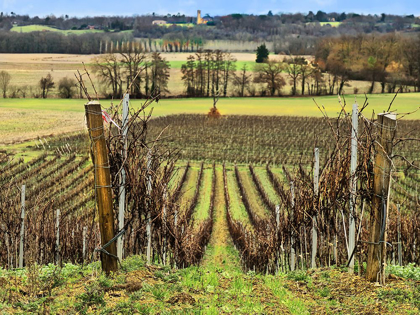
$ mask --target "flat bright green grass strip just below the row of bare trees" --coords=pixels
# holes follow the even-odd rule
[[[370,94],[365,115],[370,116],[387,110],[394,94]],[[344,98],[347,111],[356,100],[361,106],[365,101],[364,95],[349,95]],[[342,100],[344,101],[344,100]],[[114,100],[114,104],[117,101]],[[119,102],[119,101],[118,101]],[[131,100],[131,106],[139,107],[144,100]],[[222,115],[277,115],[277,116],[310,116],[321,117],[322,113],[315,102],[325,109],[331,117],[340,111],[337,96],[318,97],[227,97],[220,98],[217,107]],[[53,112],[83,112],[85,100],[80,99],[1,99],[0,109],[34,110]],[[104,108],[111,105],[111,100],[101,100]],[[174,98],[162,99],[153,105],[153,115],[172,114],[206,114],[213,105],[212,98]],[[392,109],[397,113],[413,112],[420,107],[420,93],[399,94],[393,102]],[[420,111],[408,116],[410,119],[420,119]],[[5,118],[5,117],[3,117]],[[7,119],[7,117],[6,117]],[[4,120],[0,125],[4,123]],[[22,121],[23,123],[23,121]]]

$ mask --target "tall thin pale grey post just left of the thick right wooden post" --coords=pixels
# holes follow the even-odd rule
[[[356,189],[357,189],[357,131],[359,128],[357,104],[353,104],[350,159],[350,215],[349,215],[349,273],[354,272],[354,247],[356,244]]]

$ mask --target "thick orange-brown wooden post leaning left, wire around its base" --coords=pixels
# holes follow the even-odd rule
[[[95,168],[95,193],[99,212],[99,229],[102,246],[107,244],[115,235],[114,212],[112,208],[112,187],[108,151],[105,143],[104,125],[101,105],[91,101],[85,105],[86,120],[89,136],[92,141],[92,161]],[[111,243],[106,251],[117,255],[115,242]],[[102,270],[108,275],[118,269],[117,259],[101,252]]]

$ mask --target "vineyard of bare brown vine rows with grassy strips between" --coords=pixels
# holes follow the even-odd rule
[[[128,165],[124,166],[128,206],[124,257],[148,255],[150,243],[151,264],[194,268],[206,264],[212,239],[224,238],[232,242],[240,269],[248,274],[293,273],[313,264],[317,268],[348,265],[348,116],[338,120],[173,115],[145,120],[147,132],[139,121],[133,123],[141,132],[129,135],[133,157],[126,162],[118,137],[109,131],[107,140],[116,209],[118,174]],[[365,126],[360,143],[362,137],[368,139],[374,125],[364,117],[361,120]],[[413,142],[402,141],[420,138],[420,127],[417,121],[400,120],[397,132],[386,231],[388,264],[420,265],[420,173],[415,167],[419,155]],[[141,147],[136,145],[138,139],[154,145]],[[314,189],[315,148],[320,152],[319,192]],[[22,221],[24,265],[97,260],[100,254],[95,249],[101,239],[88,135],[39,138],[31,149],[37,157],[27,163],[7,151],[0,154],[0,266],[19,267]],[[357,171],[360,193],[354,252],[354,270],[359,275],[366,268],[373,198],[368,189],[370,156],[363,154],[371,148],[366,144],[363,150]],[[22,189],[26,191],[24,220]],[[313,217],[318,218],[314,262]],[[219,227],[220,220],[225,230]],[[118,231],[116,214],[114,221]]]

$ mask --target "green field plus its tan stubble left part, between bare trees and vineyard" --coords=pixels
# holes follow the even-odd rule
[[[393,95],[368,95],[369,107],[366,115],[372,111],[381,112],[391,103]],[[315,97],[319,106],[323,106],[330,117],[340,110],[336,96]],[[364,96],[357,95],[356,100],[363,104]],[[354,97],[346,99],[348,108]],[[30,140],[38,136],[83,130],[85,126],[83,113],[84,100],[79,99],[2,99],[0,114],[2,137],[0,144],[10,144]],[[102,106],[108,108],[110,100],[102,100]],[[116,103],[114,101],[114,103]],[[138,108],[142,100],[132,100],[131,106]],[[415,111],[420,105],[418,93],[400,94],[392,108],[398,113]],[[212,106],[212,99],[162,99],[154,104],[155,117],[172,114],[205,114]],[[305,98],[221,98],[218,108],[223,115],[276,115],[276,116],[308,116],[321,117],[322,113],[310,97]],[[369,113],[369,114],[367,114]],[[420,119],[420,112],[409,116],[409,119]]]

